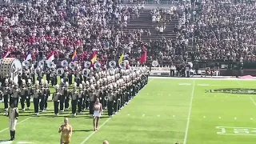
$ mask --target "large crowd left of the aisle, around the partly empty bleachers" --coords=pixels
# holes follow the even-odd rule
[[[125,52],[126,58],[136,62],[140,53],[148,50],[150,60],[186,61],[184,23],[176,29],[176,40],[162,38],[142,42],[141,34],[150,36],[150,30],[126,31],[127,23],[138,18],[143,8],[143,2],[124,6],[109,0],[31,0],[1,6],[0,51],[1,54],[10,51],[10,57],[20,58],[25,58],[30,51],[34,59],[39,58],[40,52],[47,56],[56,51],[56,59],[62,59],[70,58],[76,50],[78,58],[84,60],[96,50],[98,59],[103,61],[117,59]],[[152,15],[161,13],[159,23],[165,28],[166,22],[183,14],[176,9],[173,6],[170,10],[155,9]]]

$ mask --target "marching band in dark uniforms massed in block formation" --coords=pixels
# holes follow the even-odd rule
[[[2,97],[4,109],[8,103],[20,102],[22,110],[30,110],[30,100],[33,98],[34,114],[38,115],[48,108],[48,101],[54,102],[54,114],[58,115],[72,108],[72,114],[81,114],[89,110],[93,114],[94,102],[99,98],[108,115],[116,114],[139,90],[148,82],[146,67],[130,67],[130,69],[110,68],[107,70],[88,69],[61,72],[60,82],[56,70],[39,70],[37,78],[33,71],[24,69],[18,83],[10,78],[2,80]],[[32,74],[31,74],[32,73]],[[46,79],[43,76],[46,74]],[[74,83],[73,83],[74,75]],[[50,91],[50,84],[54,91]],[[72,86],[70,88],[70,86]],[[51,94],[53,93],[53,94]],[[70,106],[71,104],[71,106]],[[6,113],[5,113],[6,114]]]

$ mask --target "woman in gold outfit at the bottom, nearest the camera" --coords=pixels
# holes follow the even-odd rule
[[[62,133],[60,143],[61,144],[69,144],[72,136],[72,126],[69,125],[68,118],[64,118],[64,125],[60,126],[58,129],[58,133]]]

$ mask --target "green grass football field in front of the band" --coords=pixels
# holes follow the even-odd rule
[[[256,81],[249,80],[150,78],[118,114],[101,118],[98,132],[93,131],[88,111],[70,118],[74,129],[71,143],[101,144],[106,139],[110,144],[255,144],[256,98],[254,94],[230,93],[230,89],[255,87]],[[53,103],[49,104],[51,109],[39,117],[33,116],[34,110],[21,112],[13,144],[59,143],[58,127],[70,111],[54,117]],[[7,118],[0,116],[0,140],[9,138]]]

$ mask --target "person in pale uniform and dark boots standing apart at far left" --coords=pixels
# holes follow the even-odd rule
[[[14,102],[10,103],[7,116],[9,117],[10,141],[15,139],[16,124],[18,121],[18,108]]]

